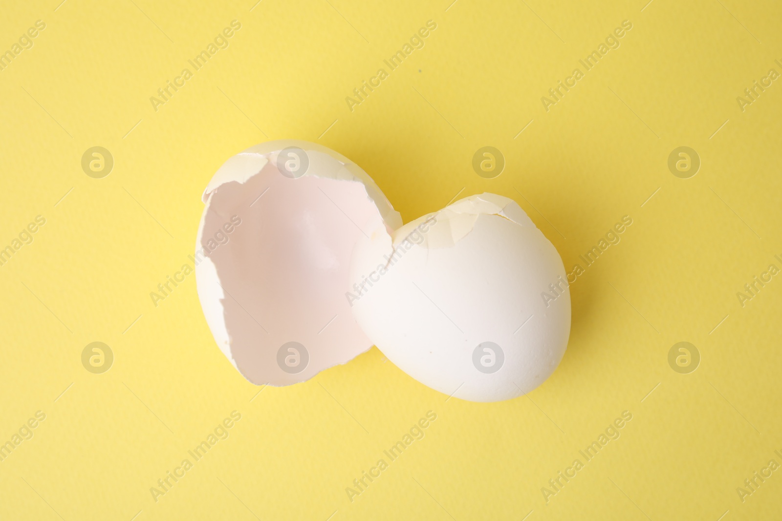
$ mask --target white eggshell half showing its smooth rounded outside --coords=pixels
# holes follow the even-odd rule
[[[565,354],[570,294],[554,245],[511,199],[474,195],[353,252],[361,328],[422,384],[471,401],[532,391]],[[557,298],[545,302],[550,284]],[[485,344],[490,342],[492,344]]]

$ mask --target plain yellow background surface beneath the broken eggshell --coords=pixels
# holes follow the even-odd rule
[[[782,464],[782,276],[737,297],[782,268],[782,80],[737,102],[782,73],[779,2],[254,2],[3,2],[0,52],[46,27],[0,70],[0,248],[46,222],[0,266],[0,443],[45,420],[0,461],[0,519],[782,516],[782,470],[737,493]],[[153,109],[231,20],[228,48]],[[389,70],[427,20],[424,47]],[[623,20],[619,48],[544,109]],[[633,224],[572,284],[565,359],[528,397],[447,399],[376,348],[257,394],[214,343],[194,276],[157,306],[149,293],[188,262],[222,162],[281,138],[353,159],[405,221],[457,194],[514,198],[569,271]],[[81,169],[93,146],[113,155],[108,177]],[[472,170],[484,146],[504,154],[495,179]],[[701,159],[689,179],[667,166],[680,146]],[[94,341],[113,351],[106,373],[82,366]],[[680,341],[700,352],[693,373],[669,366]],[[232,411],[228,439],[155,501]],[[350,501],[428,411],[425,437]],[[619,439],[546,501],[622,411]]]

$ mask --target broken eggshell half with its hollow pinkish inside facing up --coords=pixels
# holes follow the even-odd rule
[[[364,170],[321,145],[271,141],[228,159],[203,202],[199,300],[247,380],[295,384],[371,348],[345,298],[350,257],[401,219]]]

